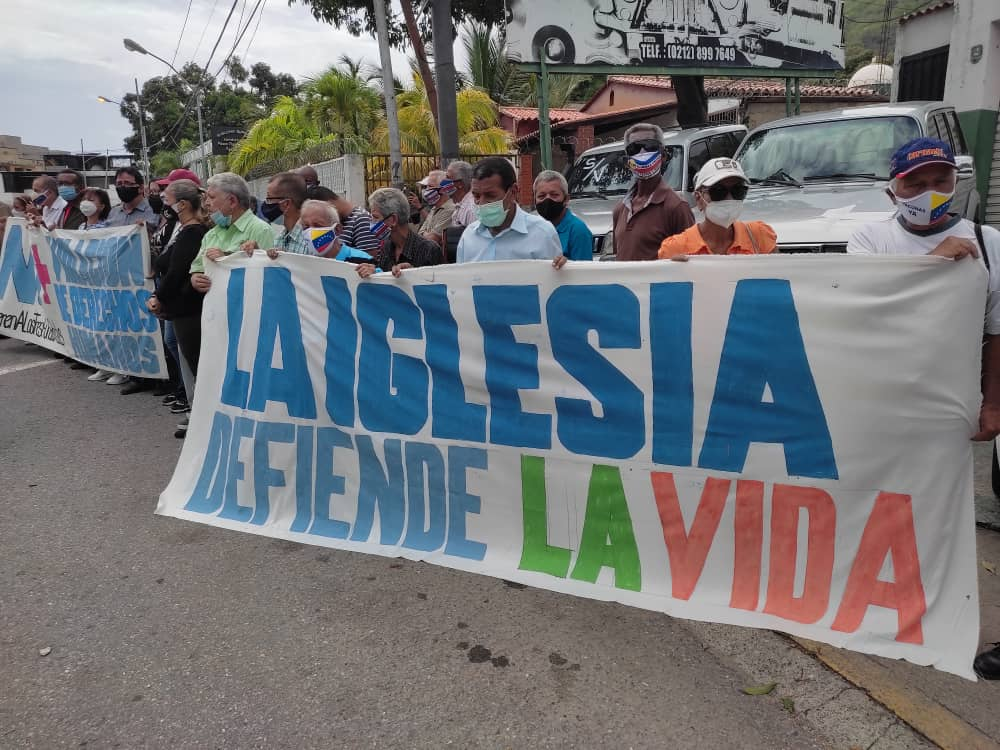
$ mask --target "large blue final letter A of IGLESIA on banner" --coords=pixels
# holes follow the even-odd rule
[[[791,284],[782,279],[736,285],[698,466],[742,472],[750,443],[782,444],[789,476],[838,477]]]

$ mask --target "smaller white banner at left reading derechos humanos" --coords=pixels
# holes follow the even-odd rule
[[[0,250],[0,333],[92,367],[167,377],[149,239],[139,227],[45,231],[9,219]]]

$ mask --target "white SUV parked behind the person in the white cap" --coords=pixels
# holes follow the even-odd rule
[[[889,159],[921,136],[951,145],[954,210],[977,220],[972,157],[955,108],[943,102],[814,112],[756,128],[736,154],[751,182],[742,218],[774,227],[782,252],[845,252],[859,226],[895,210],[886,194]]]

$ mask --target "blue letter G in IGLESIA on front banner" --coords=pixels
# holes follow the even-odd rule
[[[370,432],[414,435],[427,421],[427,365],[419,357],[397,354],[387,339],[420,340],[420,308],[402,289],[388,284],[358,287],[358,415]],[[361,393],[364,389],[364,393]]]

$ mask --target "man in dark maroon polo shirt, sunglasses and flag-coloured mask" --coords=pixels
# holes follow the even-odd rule
[[[640,122],[625,131],[635,182],[612,213],[618,260],[656,260],[660,243],[694,224],[687,202],[663,179],[663,131]]]

